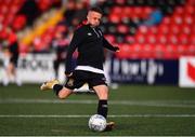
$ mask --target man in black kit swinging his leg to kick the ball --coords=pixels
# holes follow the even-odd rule
[[[87,15],[87,22],[82,23],[74,32],[74,37],[68,46],[66,57],[67,81],[61,85],[57,80],[44,82],[41,91],[53,90],[58,98],[65,99],[74,88],[79,88],[84,83],[93,88],[99,97],[98,114],[107,118],[108,87],[103,70],[104,47],[117,52],[118,46],[113,46],[103,36],[99,28],[102,10],[92,8]],[[74,68],[72,58],[73,53],[78,51],[77,66]],[[115,123],[108,122],[105,131],[113,129]]]

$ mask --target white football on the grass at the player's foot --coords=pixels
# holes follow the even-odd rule
[[[106,119],[100,114],[93,114],[89,119],[89,128],[94,132],[103,132],[106,128]]]

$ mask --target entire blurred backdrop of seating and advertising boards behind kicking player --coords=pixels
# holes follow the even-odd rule
[[[73,31],[92,5],[120,47],[105,51],[110,85],[195,87],[194,0],[0,0],[0,83],[63,82]]]

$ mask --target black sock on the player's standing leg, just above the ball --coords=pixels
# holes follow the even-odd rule
[[[106,119],[107,110],[107,100],[99,100],[98,114],[101,114]]]

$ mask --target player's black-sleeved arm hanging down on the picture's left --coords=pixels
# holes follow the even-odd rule
[[[73,54],[75,52],[75,50],[77,49],[77,46],[81,43],[83,37],[82,37],[82,30],[81,29],[77,29],[74,32],[73,39],[69,43],[68,46],[68,51],[67,51],[67,56],[66,56],[66,71],[65,74],[67,77],[72,76],[72,72],[74,70],[74,66],[73,66]]]

